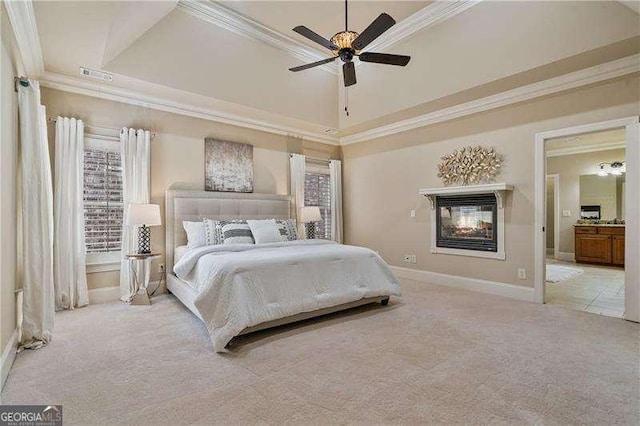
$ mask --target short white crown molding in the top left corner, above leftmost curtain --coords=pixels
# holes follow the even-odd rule
[[[31,0],[5,1],[3,3],[7,8],[7,15],[16,37],[26,77],[38,78],[44,72],[44,61],[33,3]]]

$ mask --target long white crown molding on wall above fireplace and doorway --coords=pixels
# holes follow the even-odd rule
[[[340,144],[350,145],[384,136],[390,136],[396,133],[406,132],[408,130],[464,117],[466,115],[477,114],[479,112],[528,101],[541,96],[574,89],[587,84],[622,77],[639,71],[640,55],[632,55],[626,58],[596,65],[594,67],[585,68],[580,71],[553,77],[548,80],[507,90],[496,95],[454,105],[449,108],[443,108],[418,117],[400,120],[395,123],[355,133],[353,135],[343,136],[340,138]]]

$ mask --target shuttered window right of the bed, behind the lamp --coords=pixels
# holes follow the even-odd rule
[[[329,166],[307,163],[304,179],[304,205],[320,207],[322,220],[315,223],[316,238],[331,239],[331,183]]]

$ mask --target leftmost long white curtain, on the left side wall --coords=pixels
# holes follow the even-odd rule
[[[5,88],[6,89],[6,88]],[[18,85],[22,168],[23,322],[21,347],[39,348],[53,335],[53,188],[47,119],[40,85]]]

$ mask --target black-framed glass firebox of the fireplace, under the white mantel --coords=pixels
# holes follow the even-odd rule
[[[493,194],[437,197],[436,213],[438,247],[498,251]]]

